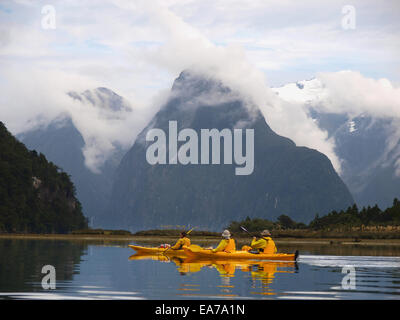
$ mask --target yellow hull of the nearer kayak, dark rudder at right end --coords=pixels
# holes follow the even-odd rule
[[[248,251],[235,251],[232,253],[216,252],[213,253],[208,249],[197,249],[190,247],[183,247],[187,257],[192,259],[210,259],[210,260],[273,260],[273,261],[296,261],[298,251],[293,254],[276,253],[276,254],[254,254]]]

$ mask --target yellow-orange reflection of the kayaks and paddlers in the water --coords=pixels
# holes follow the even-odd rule
[[[176,270],[181,276],[197,273],[202,269],[214,269],[217,271],[220,283],[216,287],[220,289],[217,296],[235,297],[233,289],[235,284],[232,279],[238,272],[243,273],[245,278],[250,280],[252,294],[257,295],[275,295],[275,291],[271,288],[277,273],[296,273],[298,264],[296,262],[280,262],[280,261],[243,261],[243,260],[196,260],[191,258],[168,257],[164,255],[143,255],[134,254],[129,260],[155,260],[160,262],[172,262],[176,265]],[[182,284],[179,288],[184,291],[179,295],[191,296],[199,291],[199,285]]]

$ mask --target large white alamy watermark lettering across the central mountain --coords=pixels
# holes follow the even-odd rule
[[[220,150],[223,140],[223,163],[233,164],[235,162],[239,166],[235,168],[236,175],[253,173],[254,129],[246,129],[245,131],[244,154],[242,129],[222,129],[221,131],[218,129],[201,129],[200,137],[197,131],[190,128],[178,132],[177,121],[169,121],[168,129],[168,135],[164,130],[157,128],[150,129],[147,132],[146,141],[153,142],[146,150],[146,160],[149,164],[210,164],[210,141],[211,164],[221,164]],[[178,148],[178,142],[184,143]]]

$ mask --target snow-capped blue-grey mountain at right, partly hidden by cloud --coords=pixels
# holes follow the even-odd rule
[[[334,139],[335,152],[342,161],[341,177],[358,204],[386,207],[400,196],[400,140],[395,115],[356,113],[351,104],[335,109],[330,88],[317,78],[271,89],[283,100],[306,108],[328,132],[328,138]],[[352,88],[348,90],[351,93]],[[354,95],[362,101],[361,93]]]

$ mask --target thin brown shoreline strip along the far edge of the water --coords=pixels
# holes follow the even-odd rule
[[[138,236],[138,235],[75,235],[75,234],[0,234],[0,239],[21,240],[69,240],[69,241],[117,241],[117,242],[173,242],[177,237],[172,236]],[[220,237],[192,236],[193,242],[207,243],[219,241]],[[236,238],[238,243],[248,242],[250,238]],[[400,239],[361,239],[354,238],[274,238],[276,244],[288,245],[343,245],[343,246],[398,246]]]

